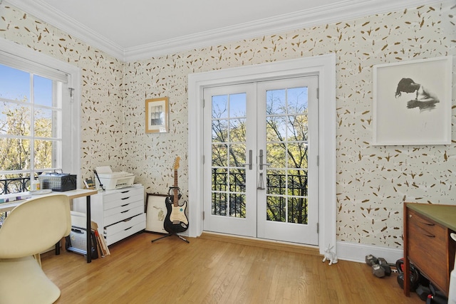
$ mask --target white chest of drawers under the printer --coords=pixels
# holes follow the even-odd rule
[[[73,210],[86,212],[86,199],[73,199]],[[91,196],[92,221],[109,246],[145,229],[144,187],[134,185]]]

